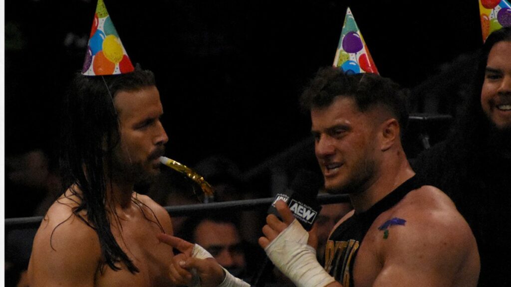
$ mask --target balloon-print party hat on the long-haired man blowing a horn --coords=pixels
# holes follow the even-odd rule
[[[86,76],[130,73],[133,64],[124,49],[117,30],[106,11],[103,0],[98,0],[92,30],[87,45],[82,74]]]

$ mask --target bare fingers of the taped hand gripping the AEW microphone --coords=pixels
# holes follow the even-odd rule
[[[260,237],[258,241],[262,248],[266,248],[270,242],[272,242],[278,236],[278,234],[280,234],[295,220],[293,212],[291,212],[284,201],[278,200],[275,202],[275,208],[277,209],[278,214],[280,214],[284,222],[279,220],[273,214],[269,214],[266,217],[267,224],[263,226],[263,234],[265,236]],[[307,244],[312,246],[314,249],[317,249],[317,243],[317,226],[314,224],[311,231],[309,231],[309,240]]]

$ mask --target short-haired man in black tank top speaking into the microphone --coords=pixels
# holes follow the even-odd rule
[[[403,151],[404,97],[388,79],[348,76],[330,67],[304,92],[325,187],[349,194],[354,210],[332,230],[323,268],[308,245],[314,245],[314,236],[309,238],[284,202],[275,203],[283,220],[270,214],[259,244],[298,287],[477,284],[479,254],[470,227],[441,190],[421,184]],[[212,259],[186,252],[189,243],[159,238],[189,255],[174,258],[174,281],[187,282],[190,276],[183,271],[190,268],[207,282],[221,281],[218,268],[205,268]]]

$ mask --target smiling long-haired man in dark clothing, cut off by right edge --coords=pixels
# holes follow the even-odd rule
[[[511,286],[511,28],[483,45],[473,85],[449,137],[414,161],[467,219],[481,256],[479,286]]]

